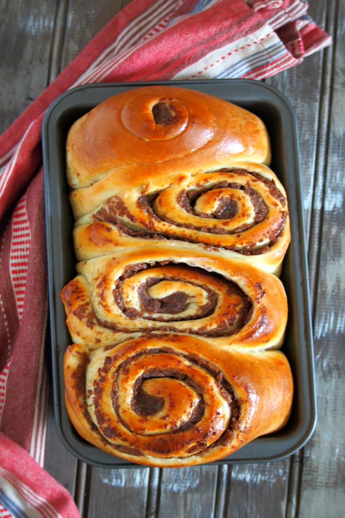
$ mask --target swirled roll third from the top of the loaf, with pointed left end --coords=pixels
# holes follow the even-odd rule
[[[222,348],[259,350],[282,343],[288,311],[281,282],[236,254],[229,258],[186,243],[149,240],[77,269],[80,275],[61,298],[73,340],[88,347],[145,332],[213,337]]]

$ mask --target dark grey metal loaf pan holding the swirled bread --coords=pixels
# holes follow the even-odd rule
[[[66,138],[74,121],[112,95],[157,83],[91,84],[67,91],[51,105],[43,122],[44,188],[48,247],[49,303],[55,419],[66,448],[82,461],[103,468],[138,467],[103,452],[74,430],[64,400],[63,358],[71,343],[63,305],[63,286],[76,276],[73,215],[66,181]],[[159,84],[171,84],[161,82]],[[174,81],[173,85],[215,95],[260,117],[272,144],[271,168],[284,185],[291,218],[291,244],[283,262],[281,280],[288,296],[289,318],[282,351],[294,378],[291,418],[279,432],[260,437],[217,464],[265,462],[281,459],[301,448],[316,425],[316,391],[308,292],[298,137],[293,109],[280,92],[251,80]]]

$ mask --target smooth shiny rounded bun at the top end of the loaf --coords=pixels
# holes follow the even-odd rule
[[[127,190],[179,171],[214,169],[224,160],[268,164],[263,122],[227,100],[172,86],[110,97],[77,120],[67,138],[73,189],[118,170],[126,172],[119,190]]]

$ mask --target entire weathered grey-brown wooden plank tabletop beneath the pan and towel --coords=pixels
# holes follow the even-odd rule
[[[0,131],[128,1],[0,1]],[[310,3],[333,47],[267,80],[298,120],[316,351],[319,420],[306,447],[283,461],[182,470],[104,470],[77,462],[59,441],[50,399],[46,469],[76,498],[83,516],[343,516],[345,306],[344,0]],[[340,237],[339,237],[340,236]]]

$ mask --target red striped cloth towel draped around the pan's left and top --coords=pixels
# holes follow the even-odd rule
[[[0,138],[0,518],[79,516],[40,467],[47,402],[44,112],[78,84],[272,76],[331,42],[307,8],[301,0],[133,0]]]

